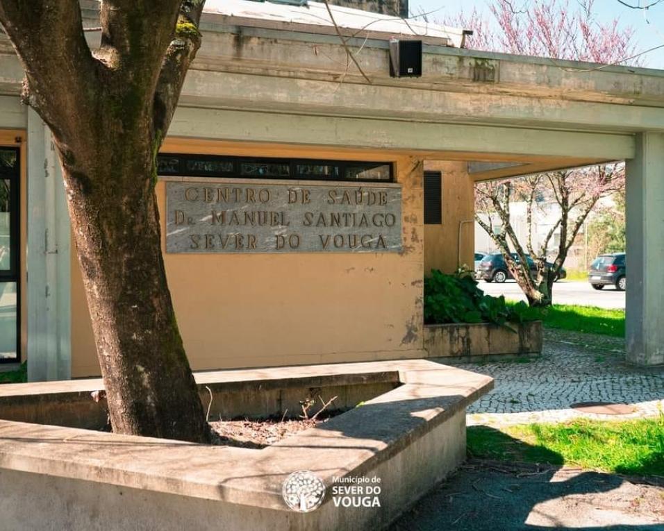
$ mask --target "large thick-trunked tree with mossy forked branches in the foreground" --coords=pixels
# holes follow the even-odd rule
[[[49,125],[115,432],[208,440],[166,283],[156,153],[201,44],[204,0],[0,0],[22,98]]]

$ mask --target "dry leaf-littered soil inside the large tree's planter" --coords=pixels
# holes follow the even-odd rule
[[[213,444],[239,446],[240,448],[265,448],[286,437],[308,430],[329,421],[341,411],[332,412],[316,419],[259,419],[210,422]]]

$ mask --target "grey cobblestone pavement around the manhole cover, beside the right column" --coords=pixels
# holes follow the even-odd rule
[[[468,425],[559,422],[584,417],[619,420],[664,412],[664,368],[624,361],[622,339],[545,330],[542,355],[529,362],[463,364],[495,378],[495,389],[468,408]],[[626,403],[636,411],[600,415],[570,409],[580,402]]]

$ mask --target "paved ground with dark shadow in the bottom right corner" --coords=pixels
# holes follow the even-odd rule
[[[472,460],[390,531],[661,531],[664,489],[613,474]]]

